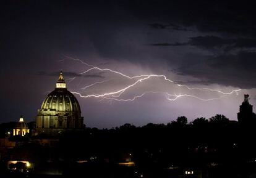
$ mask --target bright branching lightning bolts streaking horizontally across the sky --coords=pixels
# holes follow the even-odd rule
[[[202,100],[202,101],[210,101],[210,100],[218,100],[218,99],[221,99],[223,97],[227,97],[228,95],[231,95],[231,94],[237,94],[238,95],[238,92],[241,91],[241,89],[235,89],[231,92],[223,92],[219,89],[210,89],[210,88],[198,88],[198,87],[189,87],[189,86],[186,86],[186,85],[183,85],[183,84],[177,84],[175,83],[173,80],[171,79],[168,79],[165,75],[155,75],[155,74],[150,74],[150,75],[137,75],[137,76],[128,76],[128,75],[125,75],[124,73],[121,73],[119,71],[115,71],[115,70],[111,70],[110,68],[100,68],[100,67],[96,67],[94,65],[90,65],[86,62],[83,62],[82,60],[80,59],[74,59],[72,57],[67,57],[65,56],[66,58],[65,59],[62,59],[62,60],[66,60],[66,59],[69,59],[69,60],[74,60],[74,61],[77,61],[77,62],[80,62],[84,65],[87,65],[87,67],[90,67],[88,70],[85,70],[83,71],[82,73],[80,73],[80,75],[83,75],[85,73],[88,73],[92,70],[99,70],[99,71],[109,71],[111,73],[115,73],[117,75],[120,75],[120,76],[123,76],[127,79],[137,79],[134,83],[122,88],[122,89],[118,89],[117,91],[112,91],[112,92],[107,92],[105,94],[90,94],[90,95],[82,95],[80,92],[72,92],[73,94],[77,94],[79,95],[80,97],[82,98],[88,98],[88,97],[96,97],[96,98],[101,98],[102,100],[103,99],[108,99],[108,100],[116,100],[116,101],[124,101],[124,102],[128,102],[128,101],[134,101],[135,99],[138,99],[140,97],[143,97],[145,94],[150,94],[150,93],[153,93],[153,94],[165,94],[166,95],[166,99],[170,100],[170,101],[174,101],[174,100],[177,100],[181,97],[193,97],[195,99],[198,99],[198,100]],[[61,61],[62,61],[61,60]],[[168,83],[173,83],[175,86],[177,87],[185,87],[186,89],[190,90],[190,91],[194,91],[194,90],[199,90],[199,91],[211,91],[211,92],[217,92],[219,94],[221,94],[220,97],[216,97],[216,98],[211,98],[211,99],[202,99],[200,97],[197,97],[195,95],[190,95],[190,94],[179,94],[179,95],[176,95],[176,94],[169,94],[168,92],[159,92],[159,91],[147,91],[147,92],[143,92],[142,94],[140,95],[136,95],[135,97],[133,97],[132,99],[119,99],[118,97],[120,97],[124,92],[126,92],[128,89],[134,87],[135,85],[139,84],[139,83],[142,83],[144,81],[147,81],[148,79],[150,78],[162,78],[164,81],[168,82]],[[73,81],[74,79],[72,79]],[[109,81],[109,80],[106,80],[106,81]],[[100,83],[105,83],[106,81],[98,81],[96,83],[93,83],[93,84],[90,84],[88,86],[85,86],[85,87],[82,87],[82,89],[87,89],[88,87],[92,87],[96,84],[100,84]]]

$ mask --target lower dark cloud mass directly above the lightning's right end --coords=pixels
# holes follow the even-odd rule
[[[256,52],[240,51],[237,54],[221,54],[203,56],[200,54],[187,54],[193,62],[177,68],[180,75],[190,75],[196,78],[207,79],[201,84],[216,83],[224,86],[241,88],[256,87]],[[186,65],[185,65],[186,63]],[[195,83],[197,83],[195,81]]]

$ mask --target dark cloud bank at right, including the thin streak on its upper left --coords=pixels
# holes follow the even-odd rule
[[[221,84],[243,89],[256,87],[256,84],[251,82],[256,78],[255,38],[221,38],[207,35],[191,37],[184,43],[155,43],[151,46],[193,46],[202,49],[201,52],[185,54],[174,70],[179,75],[200,79],[184,83]]]

